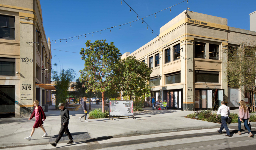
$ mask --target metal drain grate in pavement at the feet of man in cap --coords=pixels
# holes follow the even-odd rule
[[[80,139],[91,139],[89,133],[71,133],[73,140],[80,140]],[[50,136],[49,142],[55,142],[58,135]],[[63,134],[60,141],[69,141],[68,135]]]

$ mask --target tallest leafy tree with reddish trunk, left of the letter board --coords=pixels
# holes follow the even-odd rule
[[[113,42],[109,44],[106,40],[96,40],[91,43],[88,40],[86,49],[81,48],[81,59],[84,60],[84,69],[80,70],[80,81],[94,93],[102,93],[102,104],[105,100],[105,92],[109,89],[118,89],[118,65],[121,59],[121,53],[115,47]],[[104,112],[102,105],[102,112]]]

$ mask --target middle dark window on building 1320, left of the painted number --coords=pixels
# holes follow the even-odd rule
[[[0,57],[0,75],[15,76],[15,58]]]

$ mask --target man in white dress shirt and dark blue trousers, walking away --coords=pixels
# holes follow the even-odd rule
[[[223,128],[225,128],[225,130],[227,132],[226,136],[230,137],[231,135],[230,135],[228,125],[227,125],[228,116],[230,114],[230,108],[225,105],[225,101],[221,101],[221,106],[218,109],[216,118],[218,117],[219,114],[221,115],[221,126],[220,126],[220,130],[218,130],[218,132],[221,133]]]

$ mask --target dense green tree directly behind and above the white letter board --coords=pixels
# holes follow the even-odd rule
[[[149,86],[147,84],[150,79],[152,69],[144,62],[139,62],[134,56],[128,56],[121,60],[121,91],[123,96],[143,96],[148,93]]]

